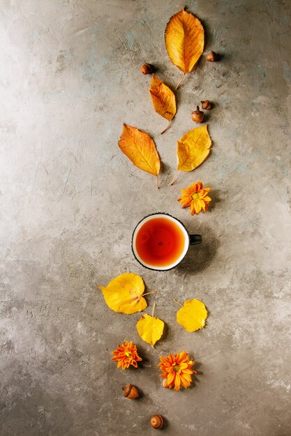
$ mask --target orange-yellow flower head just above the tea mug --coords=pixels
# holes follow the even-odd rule
[[[192,183],[188,188],[181,189],[181,197],[178,199],[180,203],[183,203],[182,208],[191,207],[191,215],[198,215],[200,210],[207,211],[209,201],[211,198],[207,196],[207,193],[211,188],[204,188],[202,182]]]

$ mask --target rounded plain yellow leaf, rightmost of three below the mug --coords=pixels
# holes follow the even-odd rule
[[[199,299],[186,299],[184,306],[177,311],[177,322],[187,332],[202,329],[207,318],[207,309]]]

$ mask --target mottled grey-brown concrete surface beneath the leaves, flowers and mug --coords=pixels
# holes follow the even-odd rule
[[[151,107],[153,63],[172,88],[163,32],[183,6],[207,32],[204,56],[177,92],[170,130]],[[288,0],[1,0],[1,436],[290,436],[290,6]],[[169,186],[177,139],[211,100],[209,159]],[[149,132],[161,189],[120,152],[121,123]],[[181,210],[180,189],[211,186],[209,212]],[[169,272],[130,251],[137,221],[169,212],[204,238]],[[154,349],[137,313],[107,308],[97,285],[144,278],[166,322]],[[187,333],[173,298],[199,298],[207,327]],[[125,339],[144,361],[121,371]],[[192,389],[161,388],[159,356],[186,349]],[[122,397],[122,385],[142,390]],[[161,433],[162,434],[162,433]]]

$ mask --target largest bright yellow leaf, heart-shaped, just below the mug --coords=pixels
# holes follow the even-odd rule
[[[133,272],[121,274],[103,288],[105,302],[114,312],[131,313],[141,312],[147,307],[147,302],[142,297],[144,293],[144,281],[142,277]]]

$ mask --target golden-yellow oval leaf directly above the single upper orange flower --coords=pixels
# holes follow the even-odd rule
[[[189,130],[178,141],[178,170],[192,171],[202,164],[210,153],[211,138],[207,125]]]

